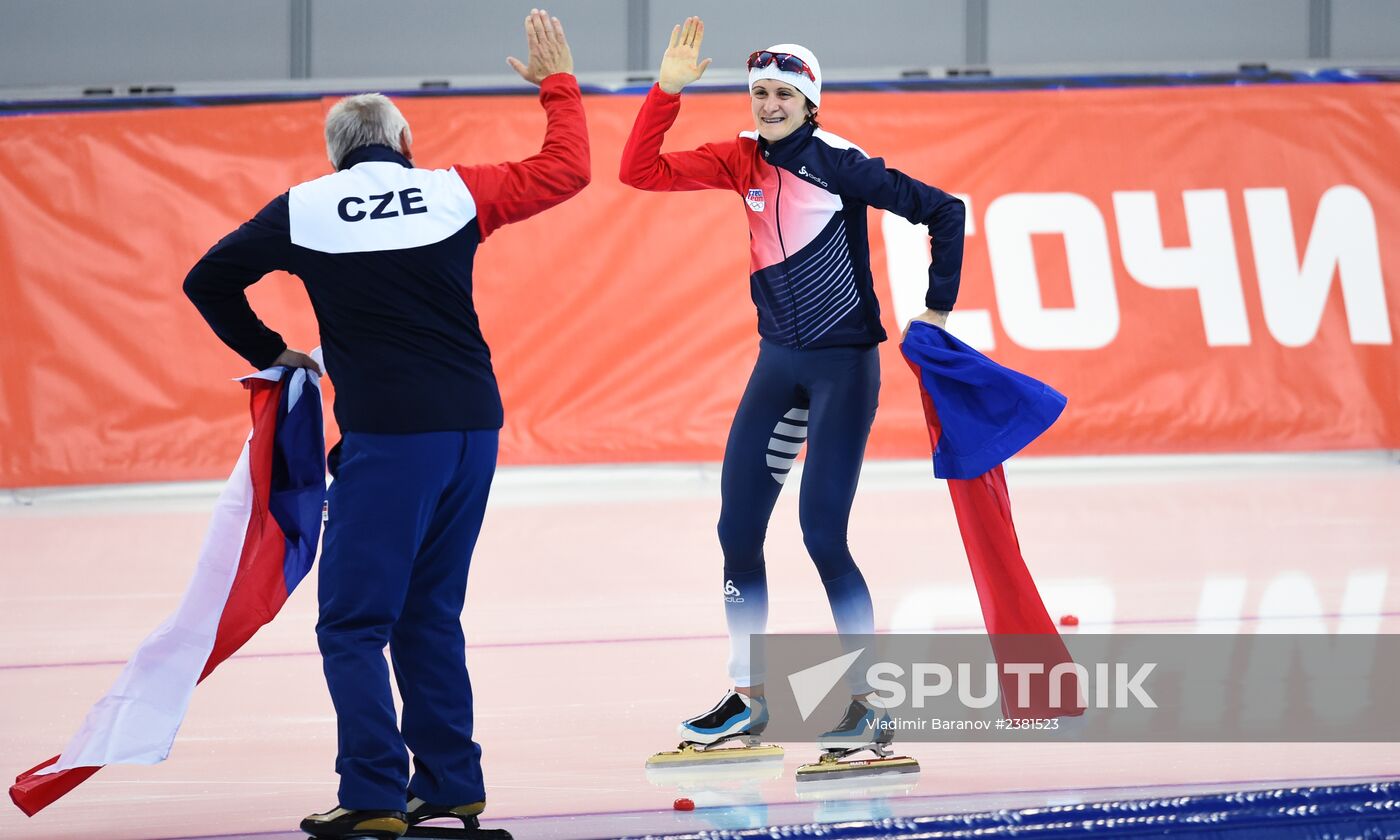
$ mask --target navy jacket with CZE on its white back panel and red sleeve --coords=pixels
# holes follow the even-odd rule
[[[287,349],[245,288],[298,276],[321,326],[344,431],[500,428],[501,398],[472,304],[477,245],[588,185],[588,130],[573,76],[540,85],[547,129],[519,162],[414,169],[364,146],[332,175],[273,199],[185,279],[185,294],[255,368]]]

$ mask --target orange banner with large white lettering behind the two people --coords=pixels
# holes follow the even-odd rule
[[[594,183],[479,253],[505,463],[722,454],[757,351],[743,204],[620,185],[638,104],[587,97]],[[420,165],[519,158],[543,133],[532,97],[400,105]],[[227,379],[246,371],[181,281],[326,171],[325,108],[0,119],[0,486],[227,472],[248,426]],[[949,328],[1070,398],[1030,452],[1400,448],[1400,87],[833,90],[822,118],[967,200]],[[687,95],[668,148],[749,119],[739,92]],[[921,308],[925,242],[872,211],[892,335]],[[251,297],[294,347],[318,343],[297,280]],[[925,456],[883,356],[869,452]]]

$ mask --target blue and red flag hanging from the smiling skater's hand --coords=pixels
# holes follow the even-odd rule
[[[1021,554],[1001,469],[1050,428],[1065,398],[931,323],[911,323],[900,350],[918,379],[934,475],[948,480],[993,652],[1001,664],[1043,668],[1029,679],[1026,703],[1016,701],[1016,680],[1002,672],[1002,711],[1014,720],[1082,714],[1077,687],[1065,686],[1068,701],[1049,703],[1050,671],[1072,659]]]

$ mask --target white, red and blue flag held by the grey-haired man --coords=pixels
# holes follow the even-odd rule
[[[216,503],[195,577],[63,755],[15,778],[10,798],[29,816],[104,764],[165,760],[195,685],[270,622],[311,570],[326,498],[321,382],[311,371],[270,368],[242,384],[253,428]]]

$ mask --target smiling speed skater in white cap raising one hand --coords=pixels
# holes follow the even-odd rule
[[[928,227],[928,309],[916,321],[938,326],[958,297],[965,213],[956,197],[819,127],[822,70],[811,50],[794,43],[749,56],[752,132],[662,154],[682,90],[710,66],[710,59],[697,63],[703,38],[697,17],[672,29],[658,81],[622,158],[622,181],[630,186],[732,190],[749,220],[759,358],[725,444],[718,525],[734,689],[680,724],[682,739],[700,750],[735,739],[756,746],[767,724],[764,675],[750,662],[749,637],[763,633],[767,622],[763,539],[804,442],[802,539],[837,633],[844,638],[875,631],[869,589],[846,539],[875,420],[876,344],[886,337],[869,269],[867,207]],[[861,676],[851,678],[847,714],[822,735],[823,750],[885,755],[879,748],[892,729],[879,725],[886,713],[872,703]]]

